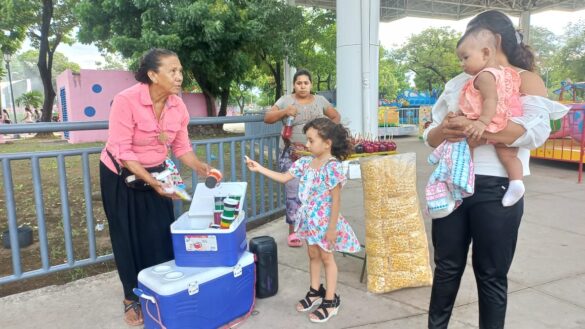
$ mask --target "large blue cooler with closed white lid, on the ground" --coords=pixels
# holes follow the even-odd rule
[[[251,311],[254,281],[254,255],[247,251],[232,267],[187,268],[168,261],[146,268],[135,291],[144,328],[219,328]]]

